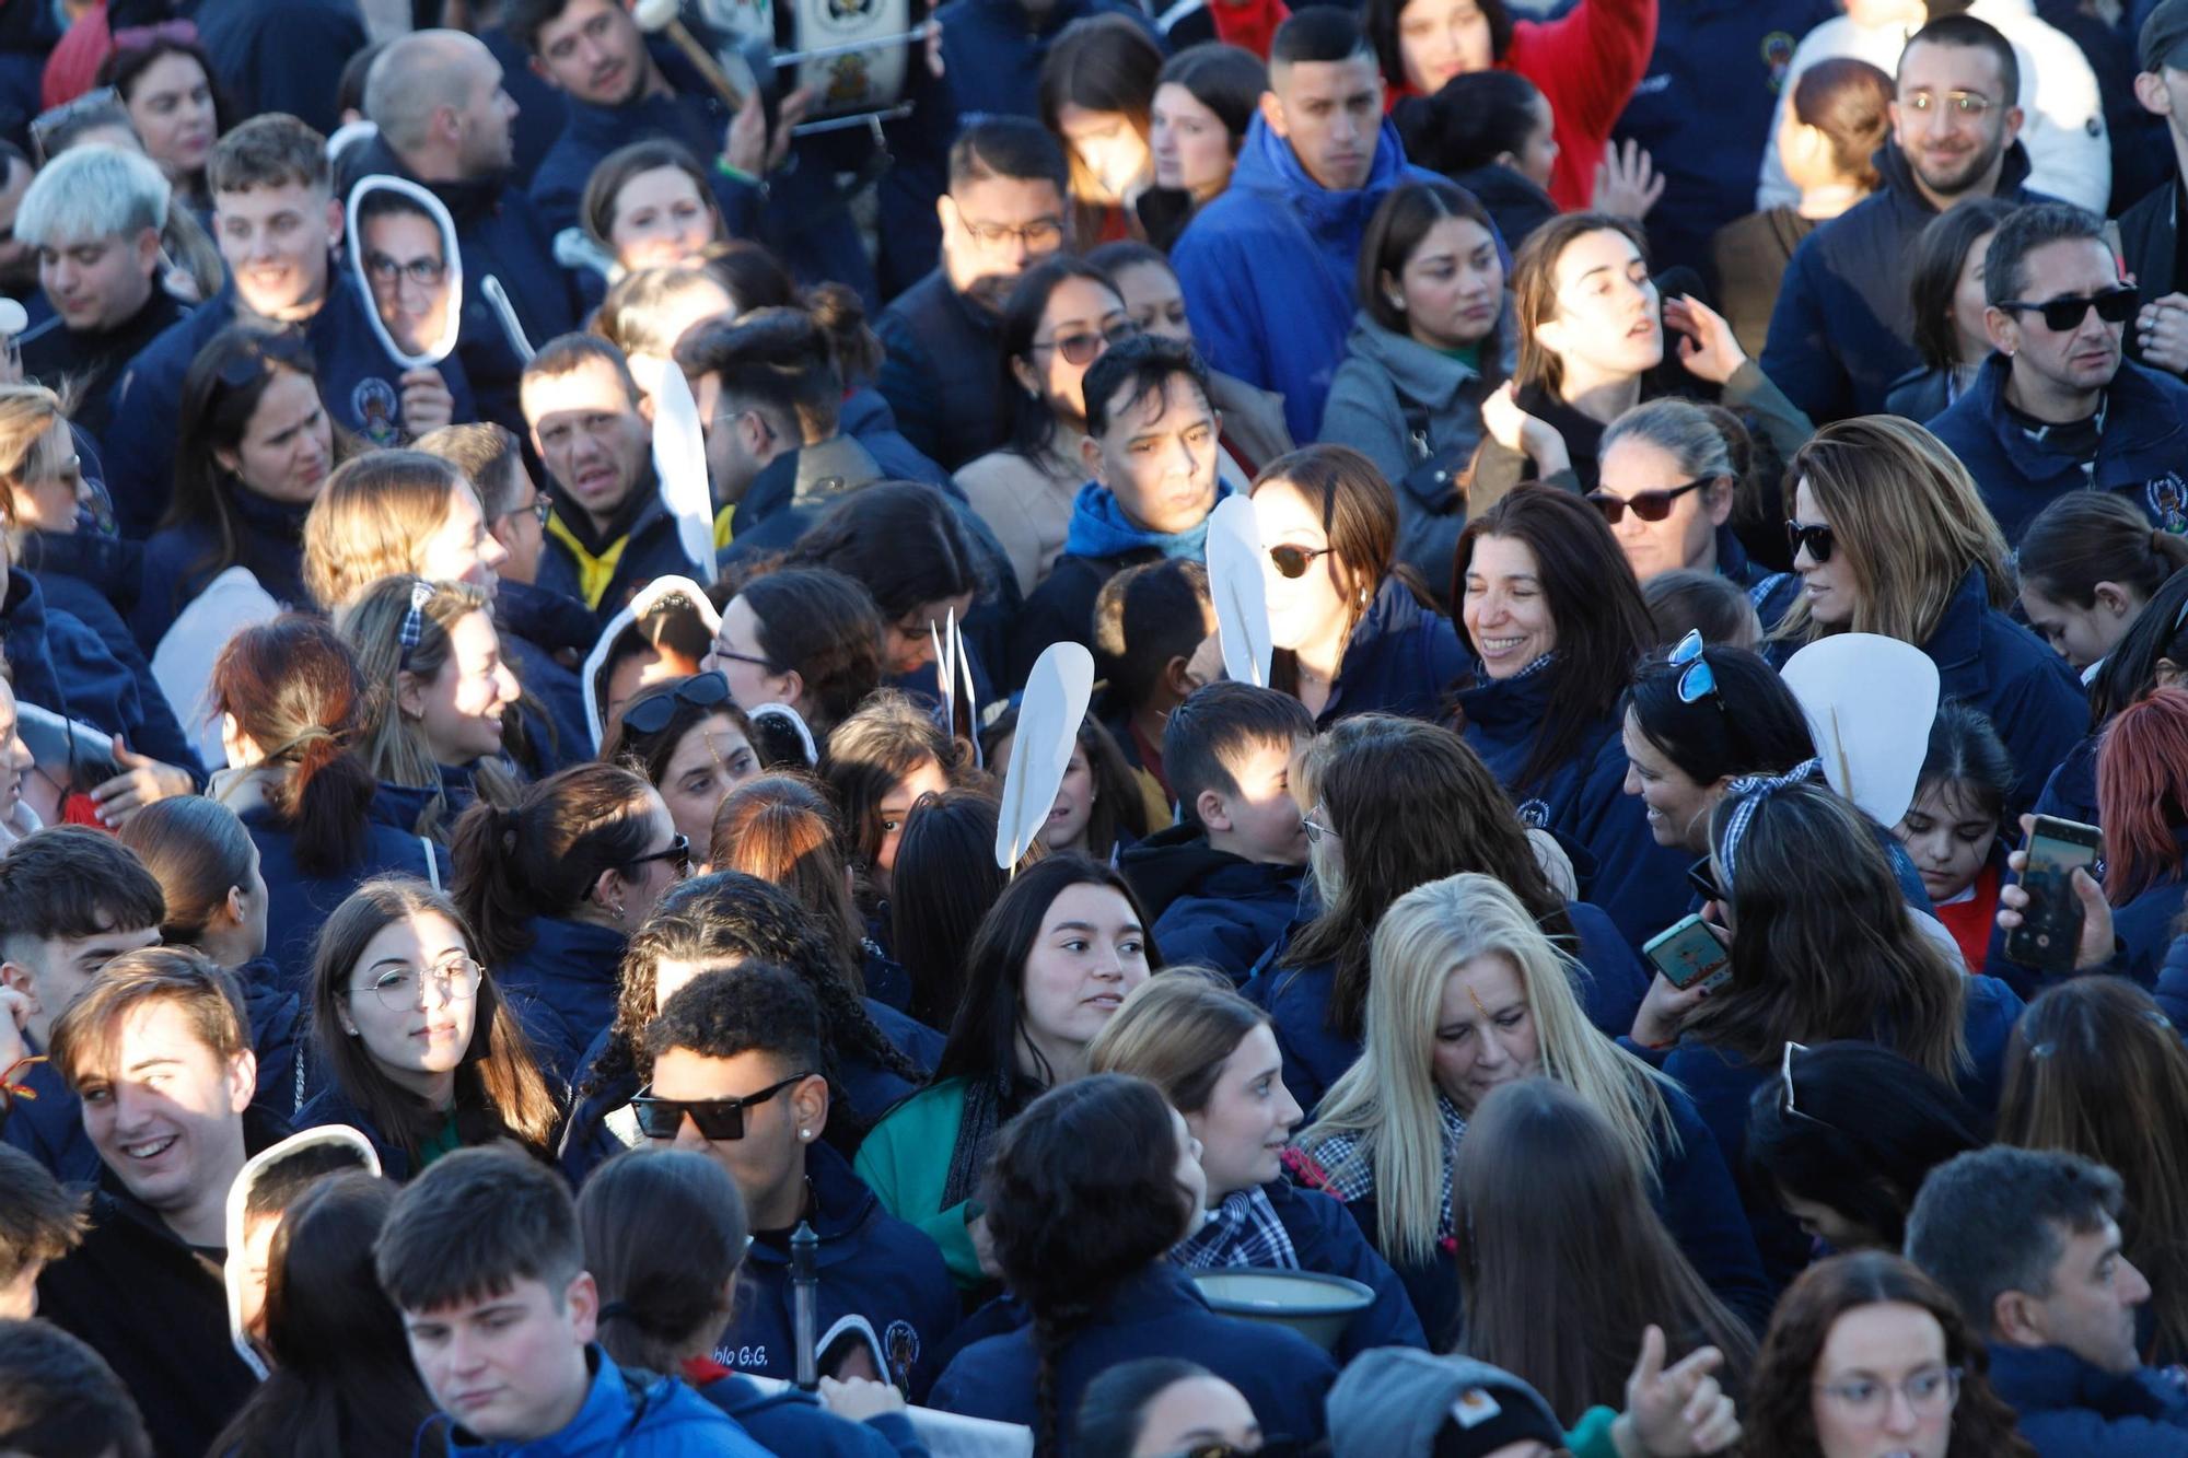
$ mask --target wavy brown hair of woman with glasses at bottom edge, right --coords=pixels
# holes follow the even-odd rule
[[[1991,1357],[1945,1289],[1910,1261],[1884,1250],[1816,1261],[1779,1298],[1755,1353],[1742,1403],[1750,1458],[1820,1458],[1816,1443],[1816,1364],[1831,1327],[1860,1307],[1921,1307],[1945,1329],[1945,1364],[1960,1370],[1945,1458],[2035,1458],[2015,1430],[2013,1408],[1991,1388]]]

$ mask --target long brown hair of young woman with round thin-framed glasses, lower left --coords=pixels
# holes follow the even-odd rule
[[[335,915],[319,928],[309,981],[311,1040],[322,1066],[341,1095],[361,1108],[372,1125],[389,1143],[403,1147],[411,1160],[440,1134],[444,1116],[381,1073],[363,1040],[344,1031],[341,1003],[350,996],[350,974],[372,939],[396,922],[422,915],[440,917],[453,926],[464,939],[464,948],[477,957],[479,939],[455,902],[422,880],[381,876],[352,891],[350,900],[335,906]],[[554,1095],[547,1092],[547,1079],[532,1057],[532,1044],[525,1042],[516,1016],[494,987],[492,972],[479,974],[473,1003],[470,1046],[464,1049],[464,1062],[455,1068],[457,1141],[481,1145],[494,1138],[516,1138],[534,1152],[545,1152],[562,1114]]]

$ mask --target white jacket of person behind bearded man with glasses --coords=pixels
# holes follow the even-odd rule
[[[2022,147],[2028,149],[2028,188],[2103,217],[2111,201],[2111,138],[2105,134],[2105,101],[2096,90],[2096,72],[2090,70],[2081,46],[2065,31],[2039,20],[2033,0],[1976,0],[1967,13],[1998,26],[2013,42],[2013,57],[2022,66]],[[1792,109],[1792,85],[1801,72],[1816,61],[1853,57],[1893,74],[1915,31],[1917,26],[1864,28],[1838,15],[1801,37],[1770,123],[1770,147],[1764,149],[1764,171],[1755,188],[1757,208],[1801,201],[1801,190],[1785,177],[1785,164],[1777,155],[1779,127]]]

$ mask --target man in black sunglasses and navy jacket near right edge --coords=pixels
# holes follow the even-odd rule
[[[2140,296],[2103,219],[2070,204],[2011,215],[1982,293],[1995,352],[1930,429],[2006,541],[2061,493],[2090,488],[2125,495],[2160,530],[2188,530],[2188,385],[2122,355]]]

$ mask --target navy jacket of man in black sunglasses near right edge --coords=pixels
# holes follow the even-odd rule
[[[2070,490],[2109,490],[2140,506],[2151,525],[2188,530],[2188,385],[2170,374],[2120,361],[2105,392],[2105,429],[2096,438],[2096,466],[2046,451],[2006,409],[2011,361],[1991,355],[1976,385],[1930,423],[1930,433],[1952,447],[1982,504],[1998,517],[2009,543],[2028,521]]]

